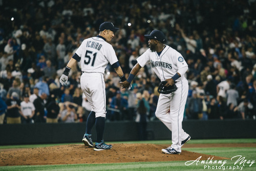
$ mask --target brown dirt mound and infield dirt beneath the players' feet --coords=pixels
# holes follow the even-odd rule
[[[230,147],[256,146],[246,144],[186,144],[184,147]],[[11,165],[48,165],[48,164],[78,164],[78,163],[119,163],[119,162],[151,162],[151,161],[188,161],[206,160],[211,155],[182,151],[181,155],[166,155],[162,148],[168,145],[158,144],[113,144],[113,148],[96,152],[83,144],[58,145],[39,148],[5,149],[0,151],[0,166]],[[226,159],[214,157],[215,160]]]

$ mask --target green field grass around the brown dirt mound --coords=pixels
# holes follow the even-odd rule
[[[155,143],[168,144],[169,140],[163,141],[129,141],[129,142],[110,142],[110,143]],[[256,139],[215,139],[215,140],[191,140],[188,143],[256,143]],[[70,144],[70,143],[67,143]],[[76,144],[76,143],[72,143]],[[77,143],[81,144],[81,143]],[[31,147],[46,147],[63,144],[40,144],[40,145],[5,145],[0,148],[31,148]],[[150,150],[150,149],[149,149]],[[242,155],[245,159],[256,159],[256,148],[254,147],[207,147],[207,148],[183,148],[183,150],[190,152],[197,152],[202,154],[209,154],[232,158],[234,156]],[[0,155],[1,156],[1,155]],[[196,160],[196,159],[195,159]],[[237,158],[236,158],[237,160]],[[224,161],[224,160],[223,160]],[[241,170],[237,166],[242,166],[239,163],[234,165],[235,160],[226,160],[227,163],[223,167],[212,169],[212,167],[220,166],[221,164],[209,164],[210,169],[204,169],[205,164],[198,163],[198,165],[185,165],[186,161],[171,161],[171,162],[132,162],[132,163],[111,163],[111,164],[68,164],[68,165],[34,165],[34,166],[2,166],[0,170]],[[236,166],[236,169],[233,167]],[[231,169],[230,169],[231,167]],[[256,164],[245,164],[242,170],[256,170]]]

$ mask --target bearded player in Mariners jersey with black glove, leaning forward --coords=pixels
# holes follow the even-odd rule
[[[163,32],[154,30],[150,35],[148,45],[150,49],[137,58],[138,63],[132,69],[129,78],[121,82],[123,88],[128,88],[139,72],[140,68],[150,63],[152,69],[161,81],[167,81],[166,87],[172,86],[176,81],[177,91],[170,94],[160,94],[157,103],[156,117],[172,131],[172,145],[162,149],[166,154],[180,154],[181,147],[190,140],[190,136],[182,129],[183,113],[188,94],[188,81],[184,77],[187,63],[182,55],[173,48],[163,44]]]

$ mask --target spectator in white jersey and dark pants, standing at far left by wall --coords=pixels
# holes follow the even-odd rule
[[[33,123],[32,118],[35,114],[35,106],[29,101],[29,95],[25,94],[24,101],[20,103],[20,111],[22,112],[22,123]]]

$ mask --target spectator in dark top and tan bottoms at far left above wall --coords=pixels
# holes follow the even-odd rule
[[[6,100],[7,112],[6,123],[22,123],[20,119],[20,100],[16,92],[12,92],[11,97]]]

